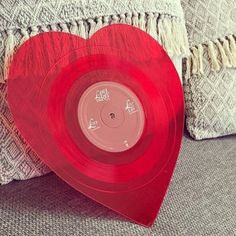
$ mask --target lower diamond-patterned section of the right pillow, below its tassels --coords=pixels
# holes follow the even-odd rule
[[[236,70],[221,69],[184,80],[186,125],[197,140],[236,133]]]

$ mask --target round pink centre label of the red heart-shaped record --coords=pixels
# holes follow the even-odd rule
[[[145,115],[139,98],[117,82],[87,88],[78,104],[82,132],[95,146],[109,152],[132,148],[140,139]]]

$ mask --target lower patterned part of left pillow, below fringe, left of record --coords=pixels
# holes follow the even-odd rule
[[[48,172],[16,129],[6,101],[6,85],[0,84],[0,184]]]

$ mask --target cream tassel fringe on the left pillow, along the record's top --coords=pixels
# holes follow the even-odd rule
[[[23,44],[29,38],[48,31],[62,31],[79,35],[87,39],[91,37],[97,30],[110,24],[129,24],[140,28],[150,34],[155,40],[159,41],[165,48],[169,56],[187,56],[189,55],[189,45],[185,24],[177,17],[158,13],[138,13],[129,12],[126,14],[116,14],[109,16],[100,16],[90,19],[73,20],[66,23],[57,23],[47,26],[32,26],[26,29],[15,29],[7,31],[3,65],[3,78],[0,77],[0,82],[7,79],[9,66],[12,60],[12,55],[16,47]],[[18,40],[18,32],[22,38]],[[16,34],[17,33],[17,34]],[[225,47],[236,47],[235,43],[229,43]],[[236,63],[236,57],[232,56],[232,61]],[[1,69],[0,69],[1,71]],[[2,72],[0,72],[1,74]]]

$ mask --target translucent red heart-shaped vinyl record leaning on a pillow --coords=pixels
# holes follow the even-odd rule
[[[154,222],[184,103],[174,65],[152,37],[128,25],[88,40],[39,34],[14,55],[8,101],[24,138],[64,181],[135,222]]]

